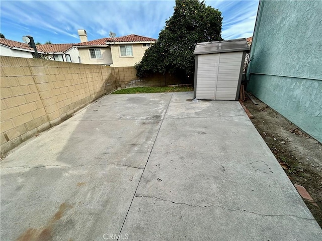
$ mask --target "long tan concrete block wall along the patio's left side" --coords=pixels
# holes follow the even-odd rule
[[[1,155],[117,88],[113,68],[0,56]]]

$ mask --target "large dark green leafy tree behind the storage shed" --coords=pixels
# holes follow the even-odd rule
[[[198,0],[177,0],[174,9],[158,40],[135,65],[137,76],[168,72],[192,80],[196,44],[222,40],[219,10]]]

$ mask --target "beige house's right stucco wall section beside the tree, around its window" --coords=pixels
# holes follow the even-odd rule
[[[124,44],[125,45],[125,44]],[[126,44],[132,45],[133,56],[121,56],[120,45],[111,45],[111,53],[113,58],[113,67],[129,67],[141,61],[147,47],[142,44]]]

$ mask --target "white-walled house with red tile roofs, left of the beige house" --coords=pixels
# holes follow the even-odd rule
[[[36,46],[38,53],[46,59],[79,63],[79,53],[72,44],[40,44]],[[34,49],[28,44],[0,38],[0,55],[33,58]]]

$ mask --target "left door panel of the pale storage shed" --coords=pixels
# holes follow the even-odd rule
[[[198,55],[197,99],[216,99],[219,54]]]

